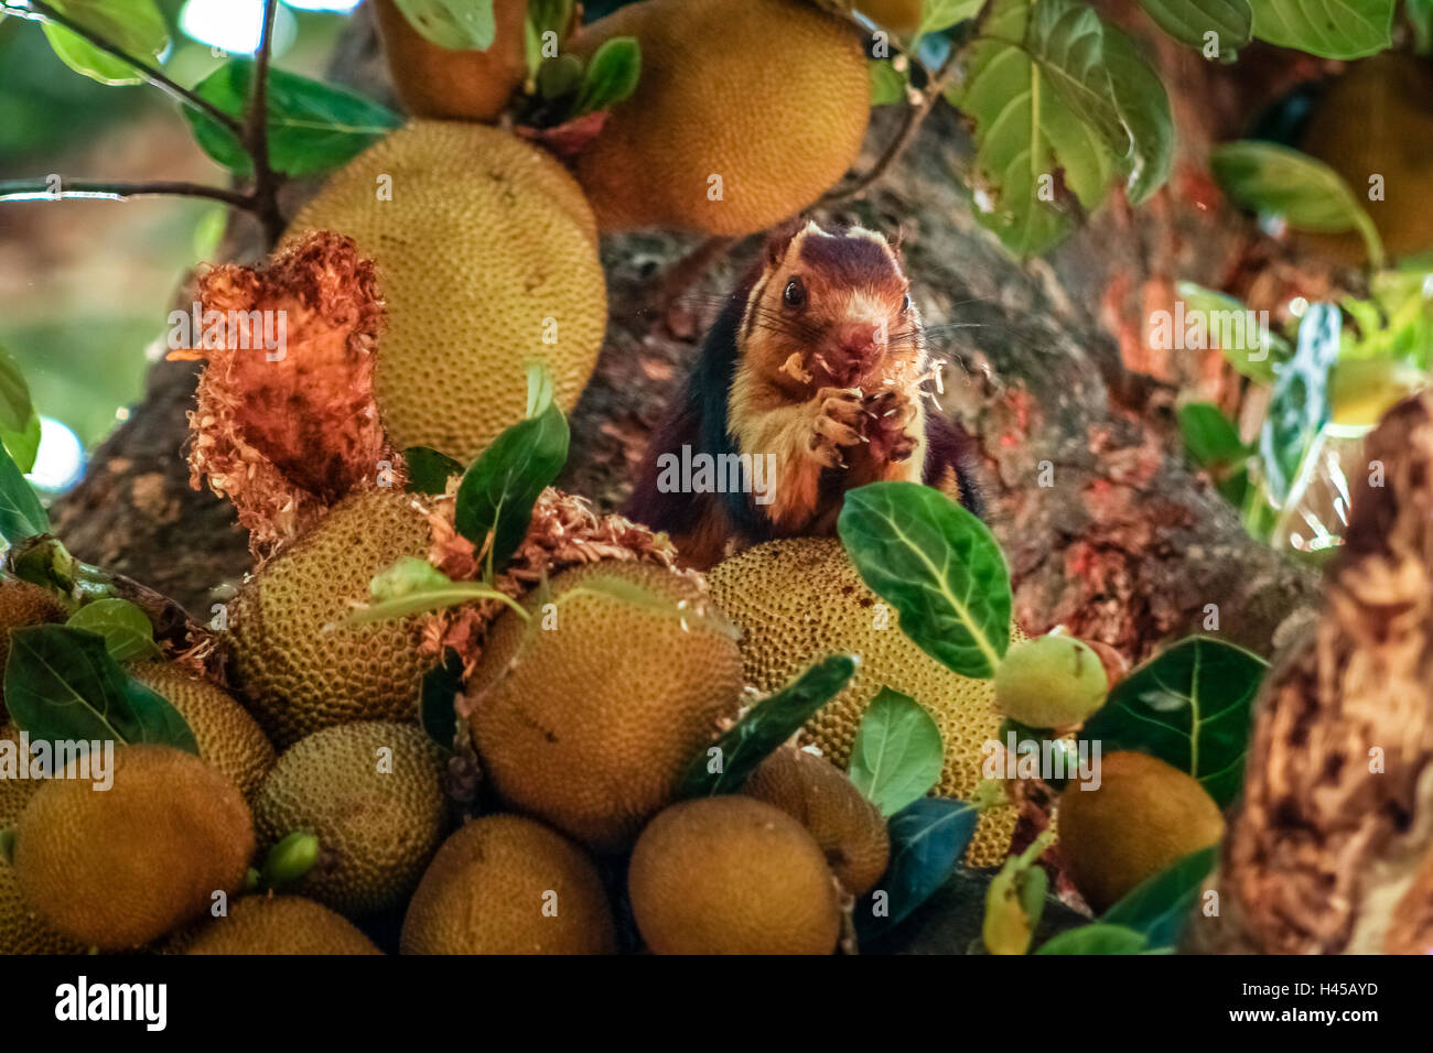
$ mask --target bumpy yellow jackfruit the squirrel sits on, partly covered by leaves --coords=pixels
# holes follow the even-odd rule
[[[716,603],[742,628],[747,681],[777,691],[833,652],[860,656],[856,676],[807,725],[813,742],[845,768],[866,706],[881,686],[910,695],[936,719],[946,746],[937,792],[967,799],[982,778],[984,744],[999,738],[990,681],[959,676],[910,642],[890,612],[880,629],[880,602],[833,537],[767,542],[718,563],[706,576]],[[1022,639],[1013,630],[1012,640]],[[984,812],[966,850],[973,867],[1005,860],[1015,811]]]

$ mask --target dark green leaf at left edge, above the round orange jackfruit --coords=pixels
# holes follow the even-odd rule
[[[105,639],[83,629],[10,630],[4,701],[32,738],[156,742],[198,754],[193,732],[163,695],[128,676]]]

